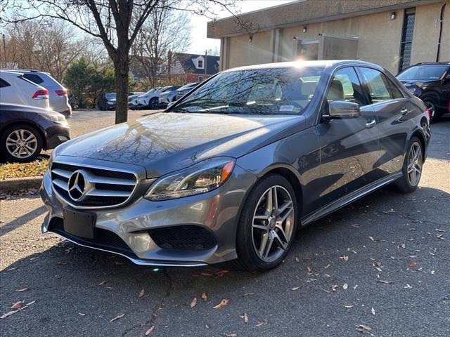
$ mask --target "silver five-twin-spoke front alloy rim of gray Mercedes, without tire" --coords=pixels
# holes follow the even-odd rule
[[[283,186],[269,187],[259,198],[252,218],[252,243],[261,260],[271,263],[288,249],[294,214],[293,198]]]

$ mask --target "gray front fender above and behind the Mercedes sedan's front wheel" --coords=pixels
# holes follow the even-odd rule
[[[317,208],[321,192],[319,137],[307,128],[240,157],[237,164],[258,177],[274,169],[290,170],[302,187],[302,213]]]

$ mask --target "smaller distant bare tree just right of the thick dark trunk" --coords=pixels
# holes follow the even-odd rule
[[[155,86],[162,65],[171,53],[186,51],[191,45],[191,20],[188,13],[175,11],[172,6],[155,8],[138,34],[132,48],[134,59]]]

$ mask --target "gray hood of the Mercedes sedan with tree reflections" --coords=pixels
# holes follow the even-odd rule
[[[303,116],[161,112],[70,140],[56,156],[139,164],[155,178],[212,157],[240,157],[305,125]]]

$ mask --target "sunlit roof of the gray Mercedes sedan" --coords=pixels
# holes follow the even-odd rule
[[[319,61],[293,61],[293,62],[274,62],[263,65],[246,65],[224,70],[224,72],[235,70],[254,70],[254,69],[271,69],[271,68],[292,68],[292,67],[337,67],[339,65],[368,65],[371,67],[381,68],[375,63],[361,60],[319,60]]]

